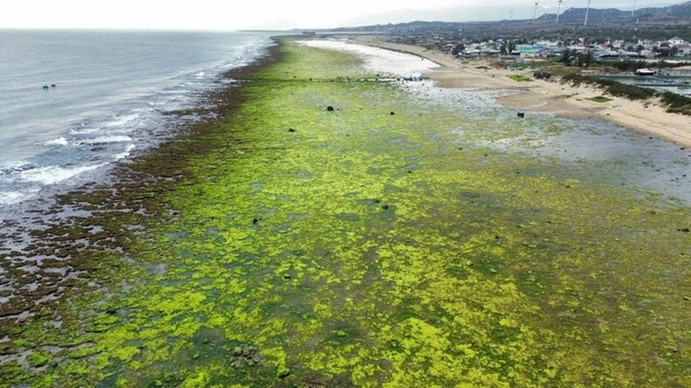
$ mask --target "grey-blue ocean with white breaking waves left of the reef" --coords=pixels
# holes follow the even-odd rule
[[[268,33],[0,30],[0,214],[170,136]],[[185,120],[203,120],[189,117]]]

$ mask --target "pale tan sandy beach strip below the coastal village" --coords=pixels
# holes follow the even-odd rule
[[[571,86],[558,80],[515,82],[509,75],[529,71],[508,71],[498,68],[478,69],[482,62],[464,63],[451,55],[428,50],[421,46],[397,44],[378,37],[357,37],[354,43],[366,44],[410,53],[430,59],[439,68],[425,75],[437,86],[445,88],[492,91],[497,100],[507,107],[527,115],[550,114],[568,118],[600,118],[635,131],[643,131],[672,140],[679,145],[691,146],[691,118],[668,113],[655,99],[632,101],[607,95],[594,87]],[[605,95],[609,102],[593,102],[587,98]]]

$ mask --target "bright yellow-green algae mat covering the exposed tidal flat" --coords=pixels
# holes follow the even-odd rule
[[[167,215],[108,212],[84,290],[4,330],[0,386],[691,386],[688,205],[281,50],[137,194]]]

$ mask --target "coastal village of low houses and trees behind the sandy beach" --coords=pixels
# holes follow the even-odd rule
[[[477,39],[461,31],[415,30],[389,33],[387,41],[414,44],[453,55],[463,61],[490,60],[500,66],[560,63],[592,68],[589,73],[615,77],[619,82],[691,95],[691,44],[679,36],[669,39]],[[535,77],[549,77],[538,71]],[[638,76],[639,79],[630,78]],[[669,89],[672,87],[672,89]],[[662,89],[661,89],[662,88]]]

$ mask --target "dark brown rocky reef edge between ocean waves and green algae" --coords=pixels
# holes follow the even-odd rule
[[[95,267],[89,261],[93,257],[113,264],[104,252],[122,250],[123,244],[133,241],[137,234],[125,231],[124,223],[153,225],[153,220],[171,218],[156,196],[195,179],[185,171],[189,159],[220,147],[205,138],[218,131],[243,104],[243,89],[252,75],[281,60],[279,48],[274,39],[274,44],[254,62],[219,75],[220,79],[235,82],[205,92],[197,107],[168,113],[180,117],[198,113],[205,120],[179,125],[173,122],[172,136],[129,160],[114,163],[101,180],[23,201],[17,205],[19,210],[12,212],[14,218],[0,219],[0,254],[12,259],[0,262],[0,274],[9,275],[0,295],[0,323],[5,323],[0,324],[0,338],[8,334],[6,330],[12,326],[9,322],[30,320],[37,311],[79,294],[76,280],[81,276],[73,274],[92,272]],[[126,219],[128,216],[133,219]],[[30,270],[22,269],[27,266]],[[107,272],[106,267],[98,266]],[[77,277],[67,282],[72,287],[65,287],[60,277],[46,275],[56,270],[62,277]],[[92,280],[111,284],[111,279],[102,275],[96,273]]]

